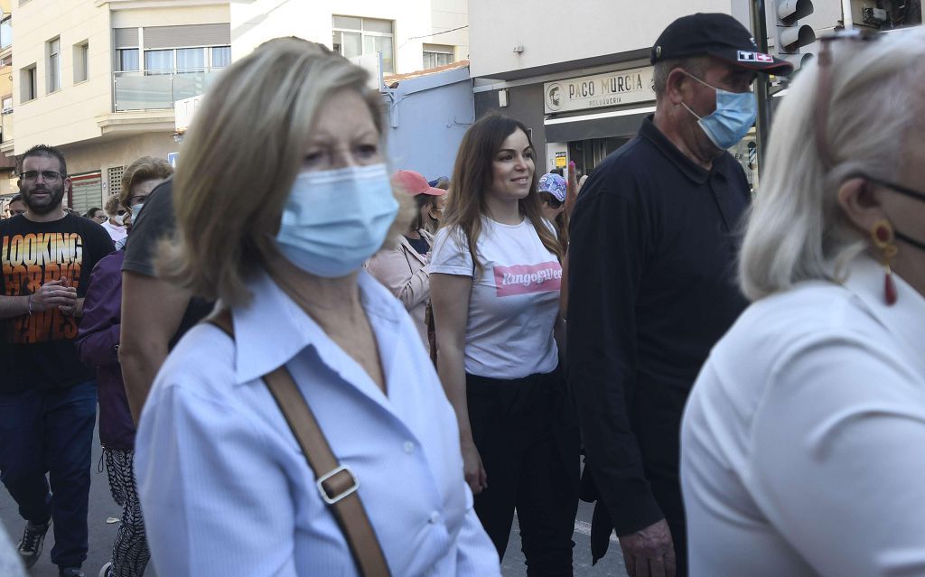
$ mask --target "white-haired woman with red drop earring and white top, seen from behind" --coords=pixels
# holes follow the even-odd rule
[[[685,410],[692,576],[925,575],[925,30],[822,42]]]

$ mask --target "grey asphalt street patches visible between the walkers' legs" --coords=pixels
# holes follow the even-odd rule
[[[93,438],[97,439],[94,432]],[[109,495],[109,484],[106,481],[106,473],[100,473],[100,456],[102,450],[98,442],[94,442],[93,448],[93,484],[90,488],[90,557],[84,563],[83,571],[87,577],[96,577],[97,571],[109,559],[109,552],[112,547],[113,539],[116,536],[115,523],[107,523],[110,518],[117,518],[121,511],[118,509],[112,496]],[[587,503],[581,503],[578,509],[578,520],[575,523],[575,549],[574,549],[574,567],[575,575],[593,576],[593,577],[625,577],[623,570],[623,558],[620,555],[620,546],[615,542],[611,543],[606,558],[598,563],[597,567],[591,567],[591,548],[590,548],[590,522],[592,506]],[[6,527],[6,532],[10,535],[10,540],[14,544],[19,542],[22,535],[23,522],[19,518],[16,504],[9,497],[5,488],[0,488],[0,521]],[[55,537],[52,531],[48,532],[45,539],[42,559],[29,571],[31,577],[57,577],[57,568],[52,565],[48,557],[52,546],[55,544]],[[520,550],[520,535],[516,522],[511,532],[511,541],[508,544],[508,552],[504,556],[502,565],[505,577],[522,577],[526,575],[524,566],[524,555]],[[154,568],[148,566],[145,577],[155,577]],[[0,576],[2,577],[2,576]]]

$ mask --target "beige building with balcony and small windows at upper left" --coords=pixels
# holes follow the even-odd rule
[[[13,21],[16,133],[6,139],[5,117],[0,151],[60,148],[80,212],[116,193],[139,156],[178,151],[174,102],[231,60],[227,1],[19,0]]]

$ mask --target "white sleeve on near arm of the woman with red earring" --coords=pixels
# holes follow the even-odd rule
[[[921,575],[920,377],[857,340],[813,345],[779,362],[760,400],[757,501],[820,575]]]

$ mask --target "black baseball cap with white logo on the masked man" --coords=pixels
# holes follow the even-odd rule
[[[649,61],[703,55],[766,74],[786,76],[794,71],[786,60],[759,52],[751,32],[728,14],[697,13],[674,20],[652,46]]]

